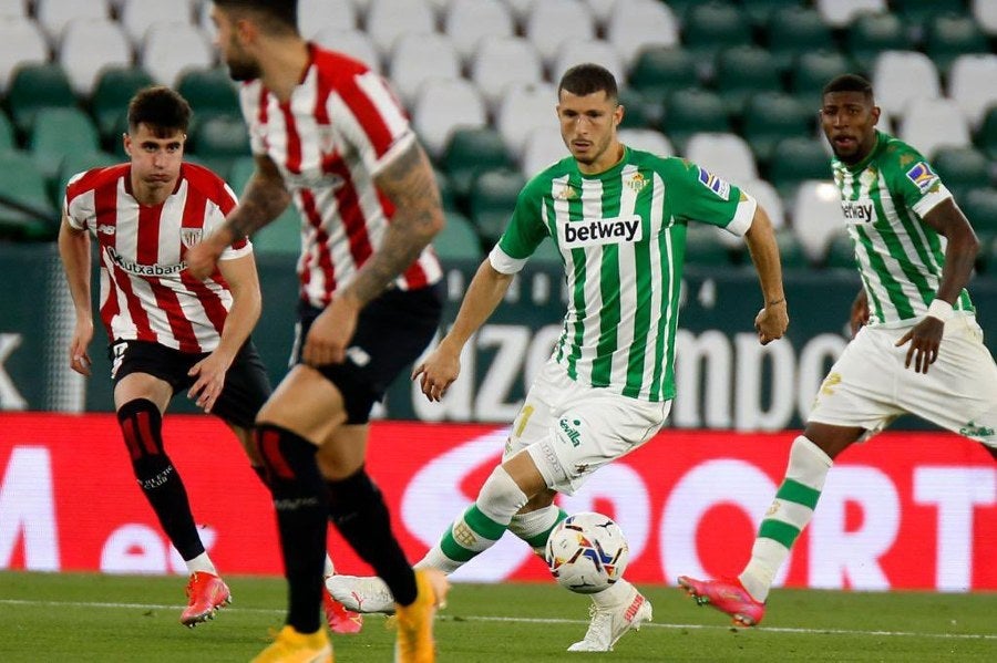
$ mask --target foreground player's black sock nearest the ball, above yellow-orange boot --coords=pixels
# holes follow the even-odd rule
[[[402,605],[415,601],[415,574],[391,532],[381,491],[361,467],[341,481],[326,481],[329,517],[357,555],[373,567]]]

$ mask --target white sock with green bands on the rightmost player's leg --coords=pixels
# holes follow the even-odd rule
[[[775,573],[813,517],[833,460],[802,435],[793,441],[785,478],[765,512],[751,547],[751,560],[738,577],[757,601],[769,598]]]

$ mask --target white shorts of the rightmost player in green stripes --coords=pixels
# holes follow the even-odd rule
[[[973,315],[945,323],[938,359],[928,372],[904,367],[909,328],[865,327],[821,384],[808,421],[861,426],[874,435],[902,414],[914,414],[997,447],[997,364]]]

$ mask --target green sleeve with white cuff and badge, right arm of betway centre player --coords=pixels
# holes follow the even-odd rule
[[[726,179],[685,159],[666,165],[666,191],[672,215],[683,221],[699,221],[743,237],[751,227],[754,198]]]

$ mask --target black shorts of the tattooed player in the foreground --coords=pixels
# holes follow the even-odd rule
[[[311,323],[323,309],[301,302],[291,364],[301,363],[301,351]],[[440,329],[443,286],[419,290],[387,290],[363,307],[357,331],[341,364],[318,369],[342,394],[348,424],[366,424],[374,402],[398,374],[425,350]]]

